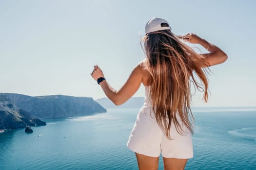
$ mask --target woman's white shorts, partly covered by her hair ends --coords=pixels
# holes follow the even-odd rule
[[[172,123],[170,129],[172,140],[169,140],[158,126],[153,113],[152,117],[150,116],[150,107],[142,106],[127,142],[127,147],[133,152],[152,157],[158,157],[161,153],[166,158],[192,158],[193,144],[190,131],[182,125],[186,134],[179,135],[174,123]],[[178,120],[183,124],[180,118]]]

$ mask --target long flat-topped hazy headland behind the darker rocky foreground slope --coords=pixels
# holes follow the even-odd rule
[[[2,94],[11,99],[17,107],[37,118],[64,118],[106,112],[98,102],[88,97],[63,95],[32,97],[14,93]]]

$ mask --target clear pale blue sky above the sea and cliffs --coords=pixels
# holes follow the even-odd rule
[[[166,19],[174,34],[195,33],[228,55],[210,67],[210,98],[193,106],[256,106],[255,0],[0,0],[0,92],[106,97],[98,65],[119,89],[144,59],[146,22]],[[202,52],[205,50],[196,45]],[[134,97],[145,96],[141,85]]]

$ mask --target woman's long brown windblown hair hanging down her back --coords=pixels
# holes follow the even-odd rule
[[[194,117],[190,108],[190,85],[192,83],[198,90],[203,91],[203,98],[207,102],[206,68],[209,64],[170,30],[146,34],[141,41],[145,45],[144,67],[151,75],[149,99],[159,127],[171,139],[170,127],[171,123],[174,123],[177,132],[183,135],[185,131],[177,119],[178,114],[193,134]]]

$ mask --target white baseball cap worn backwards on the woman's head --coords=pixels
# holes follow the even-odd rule
[[[145,31],[146,34],[154,32],[154,31],[159,31],[159,30],[172,30],[171,27],[162,27],[162,23],[167,23],[170,25],[166,20],[158,17],[153,17],[146,23]]]

